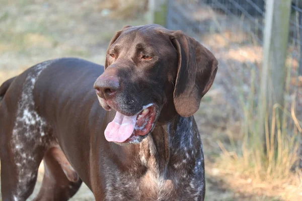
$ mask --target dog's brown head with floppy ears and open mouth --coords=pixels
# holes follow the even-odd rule
[[[159,25],[124,27],[112,38],[105,71],[94,84],[101,106],[117,111],[106,139],[139,143],[160,116],[169,117],[162,113],[193,115],[217,65],[209,50],[181,31]]]

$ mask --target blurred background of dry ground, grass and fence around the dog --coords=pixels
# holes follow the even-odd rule
[[[116,31],[150,23],[219,60],[195,114],[206,200],[302,200],[300,0],[0,0],[0,83],[58,57],[104,64]],[[93,194],[83,185],[71,200]]]

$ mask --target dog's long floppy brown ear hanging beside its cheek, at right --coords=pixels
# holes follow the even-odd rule
[[[180,116],[189,117],[199,109],[202,96],[210,89],[218,61],[208,49],[181,31],[170,36],[179,57],[174,105]]]

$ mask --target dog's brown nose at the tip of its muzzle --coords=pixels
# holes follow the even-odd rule
[[[116,91],[119,88],[119,81],[117,78],[103,78],[100,76],[94,83],[94,88],[96,89],[98,96],[110,99],[116,94]]]

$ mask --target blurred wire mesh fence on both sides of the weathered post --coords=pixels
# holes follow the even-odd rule
[[[242,105],[249,98],[257,107],[263,59],[265,0],[169,0],[166,26],[182,30],[209,48],[219,60],[214,84],[225,97],[221,111],[235,121],[245,118]],[[280,27],[282,29],[282,27]],[[278,31],[278,30],[272,30]],[[302,120],[302,1],[291,1],[287,45],[287,109],[294,104]],[[252,95],[251,95],[252,93]],[[219,106],[217,106],[219,107]],[[230,121],[230,120],[229,120]],[[232,120],[231,120],[232,121]],[[302,146],[301,146],[302,147]],[[302,156],[302,150],[301,150]]]

